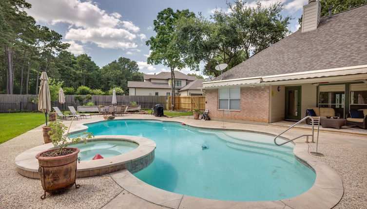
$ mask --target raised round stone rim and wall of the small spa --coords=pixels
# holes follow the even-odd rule
[[[128,169],[135,173],[147,167],[154,160],[156,144],[151,139],[125,135],[101,135],[88,139],[88,141],[105,140],[129,141],[138,144],[138,146],[130,152],[114,157],[81,160],[80,163],[77,163],[77,177],[107,174],[122,169]],[[39,178],[39,164],[36,155],[52,148],[54,148],[54,145],[47,143],[20,153],[15,158],[18,173],[30,178]]]

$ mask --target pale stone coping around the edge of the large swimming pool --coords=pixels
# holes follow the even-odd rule
[[[115,119],[121,120],[143,120],[143,121],[160,121],[160,122],[176,122],[171,120],[159,119]],[[88,129],[87,124],[98,122],[106,122],[107,120],[99,120],[96,122],[86,122],[77,124],[77,128],[73,128],[70,134],[82,132]],[[208,130],[224,130],[224,131],[246,131],[251,133],[265,134],[275,136],[274,134],[264,133],[259,131],[241,129],[241,128],[217,128],[217,127],[203,127],[198,125],[189,125],[195,128],[202,128]],[[118,135],[117,135],[118,136]],[[111,136],[112,137],[112,136]],[[287,139],[282,137],[282,139]],[[289,140],[289,139],[288,139]],[[149,185],[140,179],[136,178],[128,170],[123,169],[111,173],[111,177],[124,190],[156,205],[178,209],[178,208],[200,208],[200,209],[219,209],[219,208],[251,208],[251,209],[331,209],[339,203],[344,194],[343,182],[340,175],[332,169],[328,164],[317,160],[309,155],[309,145],[305,142],[294,142],[293,154],[297,160],[308,166],[316,174],[315,182],[312,187],[295,197],[275,200],[275,201],[226,201],[205,199],[193,197],[174,192],[168,192],[152,185]]]

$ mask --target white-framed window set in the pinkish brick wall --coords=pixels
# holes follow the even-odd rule
[[[240,109],[240,88],[219,89],[219,109]]]

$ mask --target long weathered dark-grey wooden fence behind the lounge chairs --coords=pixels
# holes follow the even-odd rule
[[[88,102],[93,102],[95,105],[111,105],[112,95],[92,95],[92,99],[79,103],[75,101],[76,96],[85,95],[65,95],[65,104],[52,102],[51,106],[57,106],[60,110],[69,110],[67,106],[74,106],[77,109],[79,105],[85,105]],[[33,98],[38,98],[38,95],[26,94],[0,94],[0,112],[33,112],[37,111],[38,104],[31,102]],[[127,105],[131,102],[140,104],[142,109],[150,109],[155,104],[166,104],[166,96],[128,96],[117,95],[118,105]]]

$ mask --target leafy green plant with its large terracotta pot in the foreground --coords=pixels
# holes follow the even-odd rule
[[[67,146],[81,140],[86,143],[87,139],[94,137],[92,133],[83,133],[81,136],[69,139],[70,126],[68,128],[60,121],[50,122],[48,126],[51,128],[48,134],[54,149],[36,155],[39,163],[40,180],[44,190],[41,199],[46,198],[46,192],[60,192],[69,189],[73,185],[79,188],[75,181],[79,149]],[[67,133],[64,134],[66,130]]]

